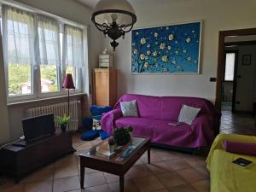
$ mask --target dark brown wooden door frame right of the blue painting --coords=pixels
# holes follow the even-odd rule
[[[237,29],[220,31],[218,34],[218,68],[217,68],[217,82],[216,82],[216,96],[215,106],[221,110],[222,100],[222,82],[224,79],[224,38],[228,36],[246,36],[256,35],[256,28]]]

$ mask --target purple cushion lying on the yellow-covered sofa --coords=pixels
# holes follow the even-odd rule
[[[235,154],[248,154],[256,156],[256,143],[239,143],[224,141],[224,149]]]

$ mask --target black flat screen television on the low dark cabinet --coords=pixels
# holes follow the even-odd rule
[[[25,141],[30,142],[39,137],[52,135],[55,133],[54,114],[45,114],[38,117],[22,120]]]

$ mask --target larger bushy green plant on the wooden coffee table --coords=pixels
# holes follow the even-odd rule
[[[131,132],[133,131],[131,126],[120,127],[113,131],[113,139],[117,145],[125,145],[131,140]]]

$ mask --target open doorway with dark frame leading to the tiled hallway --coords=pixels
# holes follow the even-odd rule
[[[256,28],[219,32],[215,105],[223,109],[220,132],[255,135],[255,73]]]

